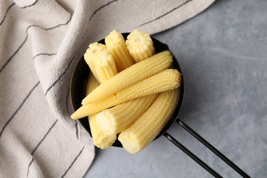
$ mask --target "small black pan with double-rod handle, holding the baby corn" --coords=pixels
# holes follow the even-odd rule
[[[129,35],[129,33],[123,33],[123,37],[125,39],[127,38],[128,35]],[[153,44],[154,44],[156,53],[159,53],[159,52],[165,51],[165,50],[170,51],[167,44],[164,44],[153,37],[151,37],[151,38],[153,40]],[[105,44],[105,39],[99,40],[99,42],[102,44]],[[203,168],[205,168],[205,170],[207,170],[209,173],[214,175],[214,177],[221,177],[218,173],[216,173],[215,170],[210,168],[207,164],[205,164],[202,160],[200,160],[199,157],[196,157],[196,155],[194,155],[194,153],[189,151],[180,142],[175,140],[175,138],[173,138],[173,136],[170,136],[170,134],[166,132],[170,128],[170,126],[173,125],[173,123],[177,122],[179,125],[181,125],[181,127],[183,127],[183,129],[186,129],[186,131],[191,133],[192,136],[194,136],[196,139],[198,139],[200,142],[202,142],[208,149],[210,149],[218,157],[220,157],[220,159],[222,159],[229,166],[231,166],[231,168],[233,168],[234,170],[236,170],[236,172],[238,172],[240,175],[242,175],[242,177],[249,177],[249,175],[244,173],[244,171],[241,170],[238,166],[236,166],[236,164],[233,164],[233,162],[231,162],[231,160],[229,160],[227,157],[225,157],[225,155],[223,155],[222,153],[220,153],[220,151],[218,151],[216,148],[214,148],[212,146],[212,144],[209,144],[209,142],[207,142],[204,138],[199,136],[199,134],[196,133],[196,131],[194,131],[192,128],[190,128],[188,125],[186,125],[186,123],[184,123],[182,120],[180,120],[178,118],[178,114],[181,110],[181,106],[183,103],[183,96],[184,96],[185,90],[184,90],[184,83],[183,83],[184,82],[183,81],[183,72],[181,71],[181,66],[179,65],[177,58],[175,58],[175,55],[173,55],[173,67],[177,68],[177,70],[182,74],[181,75],[181,86],[180,86],[181,92],[180,92],[180,96],[179,96],[179,102],[177,104],[175,112],[173,113],[173,116],[170,117],[168,123],[162,129],[162,131],[160,131],[160,133],[157,135],[155,140],[162,135],[165,136],[166,138],[168,138],[168,140],[173,142],[173,144],[175,144],[177,147],[179,147],[179,149],[181,149],[184,153],[186,153],[188,156],[190,156],[195,162],[197,162],[199,165],[201,165]],[[84,56],[82,56],[81,59],[77,62],[75,69],[73,71],[73,76],[71,78],[71,102],[73,104],[73,110],[77,110],[79,107],[81,107],[81,100],[84,99],[84,97],[86,95],[85,94],[86,93],[86,83],[87,83],[87,77],[88,77],[89,72],[90,72],[90,68],[86,64],[86,62],[84,60]],[[90,126],[88,123],[88,118],[87,117],[81,118],[81,119],[79,119],[79,122],[90,133]],[[122,144],[118,140],[116,140],[116,142],[114,142],[114,144],[112,144],[112,146],[113,147],[122,147]]]

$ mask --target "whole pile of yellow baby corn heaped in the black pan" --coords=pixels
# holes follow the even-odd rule
[[[94,145],[107,149],[117,139],[129,153],[147,147],[168,122],[179,100],[181,73],[170,68],[170,51],[155,53],[149,34],[118,31],[105,44],[89,45],[86,97],[71,118],[88,116]]]

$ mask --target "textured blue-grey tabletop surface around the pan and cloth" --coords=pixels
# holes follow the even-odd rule
[[[267,177],[267,2],[216,1],[154,35],[179,59],[181,120],[251,177]],[[168,130],[223,177],[239,175],[178,125]],[[131,155],[97,150],[86,177],[212,177],[164,136]]]

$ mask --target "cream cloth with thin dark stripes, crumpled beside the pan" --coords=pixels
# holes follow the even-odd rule
[[[169,29],[214,0],[0,1],[0,177],[82,177],[92,139],[72,120],[70,79],[113,29]]]

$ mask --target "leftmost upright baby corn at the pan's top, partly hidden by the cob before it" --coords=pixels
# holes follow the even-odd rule
[[[97,76],[97,71],[94,68],[94,58],[95,55],[99,53],[99,51],[103,51],[105,49],[105,44],[94,42],[89,45],[88,49],[86,50],[86,53],[84,53],[84,60],[86,60],[86,63],[90,67],[90,70],[92,71],[94,77],[96,77],[97,81],[99,81],[99,77]]]

